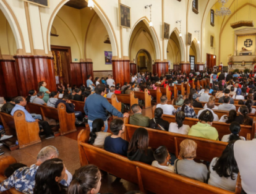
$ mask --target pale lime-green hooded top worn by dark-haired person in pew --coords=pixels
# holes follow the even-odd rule
[[[202,137],[210,140],[219,140],[219,134],[215,127],[211,127],[209,124],[202,124],[200,122],[193,125],[189,130],[189,134],[187,135]]]

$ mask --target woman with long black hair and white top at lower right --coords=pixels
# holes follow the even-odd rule
[[[208,184],[235,192],[236,179],[239,172],[234,158],[234,141],[226,146],[220,158],[213,158],[209,166]]]

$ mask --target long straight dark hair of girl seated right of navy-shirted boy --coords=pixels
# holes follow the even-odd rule
[[[138,128],[135,130],[134,135],[132,135],[127,153],[135,153],[137,150],[140,150],[141,153],[147,154],[148,141],[148,131],[142,127]]]

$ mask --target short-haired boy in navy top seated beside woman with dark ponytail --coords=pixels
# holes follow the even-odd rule
[[[114,119],[110,123],[110,130],[113,135],[105,138],[104,149],[106,151],[127,156],[129,143],[121,138],[126,126],[121,119]]]

